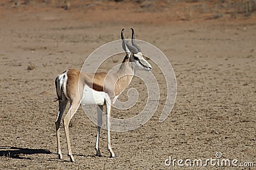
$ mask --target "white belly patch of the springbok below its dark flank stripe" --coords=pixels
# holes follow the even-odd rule
[[[106,96],[108,96],[108,94],[106,94],[105,92],[98,92],[86,85],[84,87],[81,104],[82,105],[88,105],[88,104],[103,105],[105,102]]]

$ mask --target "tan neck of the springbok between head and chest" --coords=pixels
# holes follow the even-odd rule
[[[120,92],[122,92],[126,87],[128,87],[131,83],[132,77],[134,76],[134,68],[132,63],[129,62],[129,57],[125,56],[120,68],[116,72],[116,76],[118,77],[116,83],[118,83]]]

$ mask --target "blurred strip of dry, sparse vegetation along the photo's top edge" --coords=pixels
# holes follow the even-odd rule
[[[3,0],[0,6],[6,8],[21,8],[27,5],[44,5],[52,8],[70,8],[88,10],[90,8],[113,8],[113,2],[118,4],[134,3],[134,10],[157,11],[169,10],[172,13],[179,13],[180,19],[191,20],[205,17],[206,19],[216,19],[221,17],[236,18],[237,16],[250,17],[256,13],[256,0],[90,0],[90,1],[53,1],[53,0]],[[93,4],[93,5],[91,5]],[[118,7],[115,7],[118,8]],[[182,14],[183,13],[183,14]]]

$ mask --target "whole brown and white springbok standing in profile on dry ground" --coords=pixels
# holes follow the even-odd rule
[[[126,52],[124,60],[115,74],[111,73],[84,73],[76,69],[68,69],[64,73],[58,75],[55,80],[56,92],[59,101],[58,117],[55,122],[56,137],[58,146],[58,155],[62,159],[60,149],[60,121],[63,112],[70,102],[70,108],[67,115],[63,118],[65,134],[68,146],[68,156],[74,162],[70,147],[70,139],[68,134],[68,124],[71,118],[76,113],[80,104],[88,105],[95,104],[97,107],[97,139],[96,139],[96,155],[101,156],[99,150],[100,127],[102,125],[103,106],[106,105],[106,127],[108,131],[108,150],[110,157],[115,157],[115,153],[111,148],[110,139],[110,113],[111,105],[115,103],[116,99],[126,89],[134,76],[134,69],[140,68],[150,71],[152,66],[143,58],[141,48],[134,41],[134,30],[132,30],[132,43],[128,43],[124,39],[124,29],[121,31],[122,47]],[[79,87],[79,88],[78,88]]]

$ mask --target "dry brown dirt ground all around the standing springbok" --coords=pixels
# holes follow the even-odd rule
[[[207,14],[193,19],[191,13],[176,13],[175,18],[171,14],[176,11],[169,8],[148,12],[143,6],[134,10],[137,3],[104,2],[108,6],[88,3],[86,10],[83,6],[72,9],[72,4],[68,10],[57,4],[1,4],[0,169],[255,168],[164,165],[169,157],[206,160],[221,152],[223,159],[237,159],[237,165],[254,162],[256,166],[255,15],[209,19]],[[62,126],[63,160],[59,160],[54,79],[67,68],[81,69],[93,50],[120,39],[123,27],[133,27],[136,38],[157,46],[172,63],[177,77],[172,113],[159,123],[161,102],[145,125],[134,131],[112,132],[117,157],[111,159],[106,130],[100,138],[103,157],[94,156],[96,126],[79,108],[70,124],[76,162],[69,162]],[[122,62],[122,58],[109,60],[105,71],[116,60]],[[156,66],[152,73],[161,87],[160,101],[164,101],[163,74]],[[138,80],[131,87],[138,87]],[[112,115],[129,117],[142,104],[129,111],[114,109]]]

